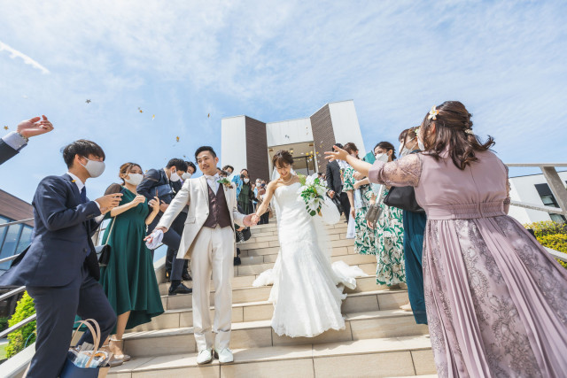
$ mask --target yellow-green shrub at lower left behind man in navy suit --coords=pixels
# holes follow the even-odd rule
[[[8,326],[12,327],[21,320],[25,320],[35,313],[34,299],[29,297],[27,291],[16,305],[12,319],[8,321]],[[6,348],[7,357],[10,359],[13,355],[23,351],[24,347],[35,342],[35,320],[27,323],[24,327],[13,331],[8,335],[8,347]]]

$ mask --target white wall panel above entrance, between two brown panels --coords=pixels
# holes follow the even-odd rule
[[[268,147],[313,141],[311,120],[283,120],[266,124]]]

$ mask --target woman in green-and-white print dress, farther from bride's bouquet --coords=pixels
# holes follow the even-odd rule
[[[392,143],[380,142],[374,148],[377,160],[391,162],[396,159]],[[406,270],[404,263],[404,226],[403,212],[397,207],[384,204],[384,198],[388,195],[390,188],[373,184],[374,197],[372,203],[377,202],[382,208],[377,220],[376,233],[376,282],[378,285],[388,285],[390,289],[399,289],[401,282],[406,282]],[[380,197],[382,190],[382,197]]]

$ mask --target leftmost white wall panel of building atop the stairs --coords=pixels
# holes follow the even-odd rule
[[[240,172],[246,166],[245,116],[221,120],[221,163],[219,167],[234,166]]]

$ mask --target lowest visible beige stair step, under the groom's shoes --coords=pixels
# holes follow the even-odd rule
[[[198,366],[197,353],[135,357],[110,369],[122,377],[393,377],[435,374],[426,336],[369,338],[340,343],[307,343],[234,349],[234,362]]]

